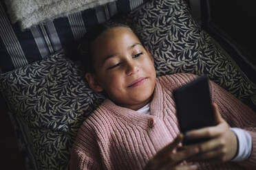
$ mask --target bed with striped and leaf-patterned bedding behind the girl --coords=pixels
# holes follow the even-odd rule
[[[190,1],[111,1],[30,25],[13,23],[9,8],[1,1],[2,114],[12,122],[25,169],[67,169],[78,128],[105,99],[88,88],[76,48],[87,29],[115,14],[124,14],[149,47],[158,76],[207,74],[256,108],[255,66],[240,53],[234,59],[234,50],[206,32]]]

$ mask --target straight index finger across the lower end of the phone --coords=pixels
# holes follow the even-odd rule
[[[191,130],[186,132],[186,138],[214,138],[219,136],[226,130],[226,124],[220,123],[219,125],[213,127],[204,127],[199,130]]]

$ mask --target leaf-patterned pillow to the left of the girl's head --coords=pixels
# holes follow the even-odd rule
[[[1,74],[0,85],[27,169],[65,169],[78,128],[104,95],[63,51]]]

